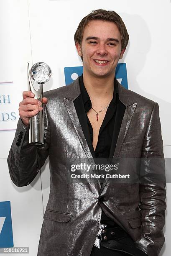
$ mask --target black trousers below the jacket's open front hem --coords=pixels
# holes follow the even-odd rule
[[[117,243],[120,243],[120,248],[122,249],[123,246],[123,251],[117,251],[116,248],[115,250],[112,250],[111,248],[105,248],[100,245],[100,249],[97,248],[96,246],[93,246],[92,248],[92,252],[90,256],[148,256],[146,253],[144,253],[143,251],[139,250],[135,245],[134,245],[134,241],[133,239],[127,235],[126,237],[123,238],[119,238],[119,239],[115,239],[115,241],[117,241]],[[107,244],[108,241],[105,241],[105,243]],[[110,241],[109,241],[110,243]],[[126,249],[129,247],[128,252],[126,252]]]

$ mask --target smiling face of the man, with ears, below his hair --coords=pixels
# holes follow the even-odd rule
[[[83,58],[84,74],[93,77],[113,77],[121,51],[121,36],[115,23],[91,20],[84,29],[82,44],[76,43]]]

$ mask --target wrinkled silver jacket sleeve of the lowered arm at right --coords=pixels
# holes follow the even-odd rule
[[[141,156],[141,237],[135,245],[148,256],[158,256],[164,243],[166,178],[158,104],[155,103],[145,133]]]

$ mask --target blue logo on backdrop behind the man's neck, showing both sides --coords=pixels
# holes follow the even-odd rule
[[[83,67],[65,67],[65,84],[71,84],[77,77],[81,76],[83,72]],[[122,84],[126,89],[128,89],[128,79],[127,79],[127,70],[126,63],[119,63],[116,67],[115,73],[116,79]]]

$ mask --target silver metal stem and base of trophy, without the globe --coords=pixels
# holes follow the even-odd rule
[[[43,86],[40,84],[38,91],[36,91],[33,87],[29,64],[27,63],[27,75],[28,75],[28,90],[33,92],[35,95],[35,99],[41,101],[43,97]],[[43,107],[43,103],[41,105]],[[44,144],[44,122],[43,122],[43,110],[38,112],[37,115],[30,118],[30,130],[29,130],[29,143],[33,145],[41,145]]]

